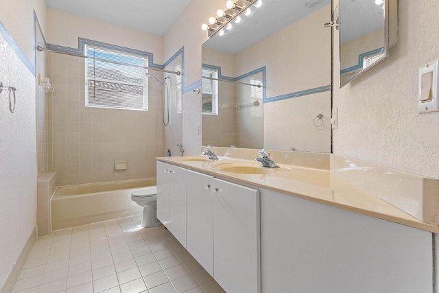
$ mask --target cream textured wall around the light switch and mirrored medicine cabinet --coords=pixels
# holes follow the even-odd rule
[[[438,15],[438,1],[399,0],[389,58],[342,89],[334,62],[335,154],[439,178],[439,112],[417,111],[418,69],[439,58]]]

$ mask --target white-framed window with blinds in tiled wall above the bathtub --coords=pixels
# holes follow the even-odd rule
[[[86,106],[130,110],[148,109],[147,58],[85,47]],[[110,62],[105,62],[108,60]],[[129,65],[120,65],[121,62]],[[130,66],[134,65],[134,66]]]

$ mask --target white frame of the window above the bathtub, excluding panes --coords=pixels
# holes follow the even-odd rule
[[[98,47],[98,46],[92,46],[92,45],[84,45],[84,56],[87,56],[87,51],[88,49],[97,49],[99,51],[106,51],[108,53],[112,53],[112,54],[118,54],[121,56],[127,56],[130,58],[138,58],[143,60],[143,66],[148,67],[148,58],[144,57],[144,56],[137,56],[137,55],[130,55],[130,54],[125,54],[125,53],[121,53],[117,50],[112,50],[112,49],[108,49],[108,48],[102,48],[102,47]],[[85,106],[89,107],[89,108],[105,108],[105,109],[117,109],[117,110],[137,110],[137,111],[147,111],[148,110],[148,78],[146,78],[146,76],[143,76],[143,108],[139,109],[139,108],[119,108],[119,107],[111,107],[111,106],[102,106],[102,105],[90,105],[88,104],[88,60],[89,58],[85,58],[85,73],[84,73],[84,77],[85,77]],[[148,73],[147,69],[145,69],[145,74]],[[102,82],[115,82],[115,83],[120,83],[120,81],[118,80],[104,80],[104,79],[99,79],[99,78],[95,78],[96,81],[102,81]],[[139,84],[134,84],[134,83],[130,83],[130,82],[124,82],[124,84],[128,84],[128,85],[132,85],[132,86],[139,86]]]

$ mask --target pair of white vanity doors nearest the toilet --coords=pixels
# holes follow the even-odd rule
[[[186,248],[186,169],[157,162],[157,218]]]

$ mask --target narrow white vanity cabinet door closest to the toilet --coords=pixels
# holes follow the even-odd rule
[[[157,219],[169,229],[169,165],[157,162]]]

